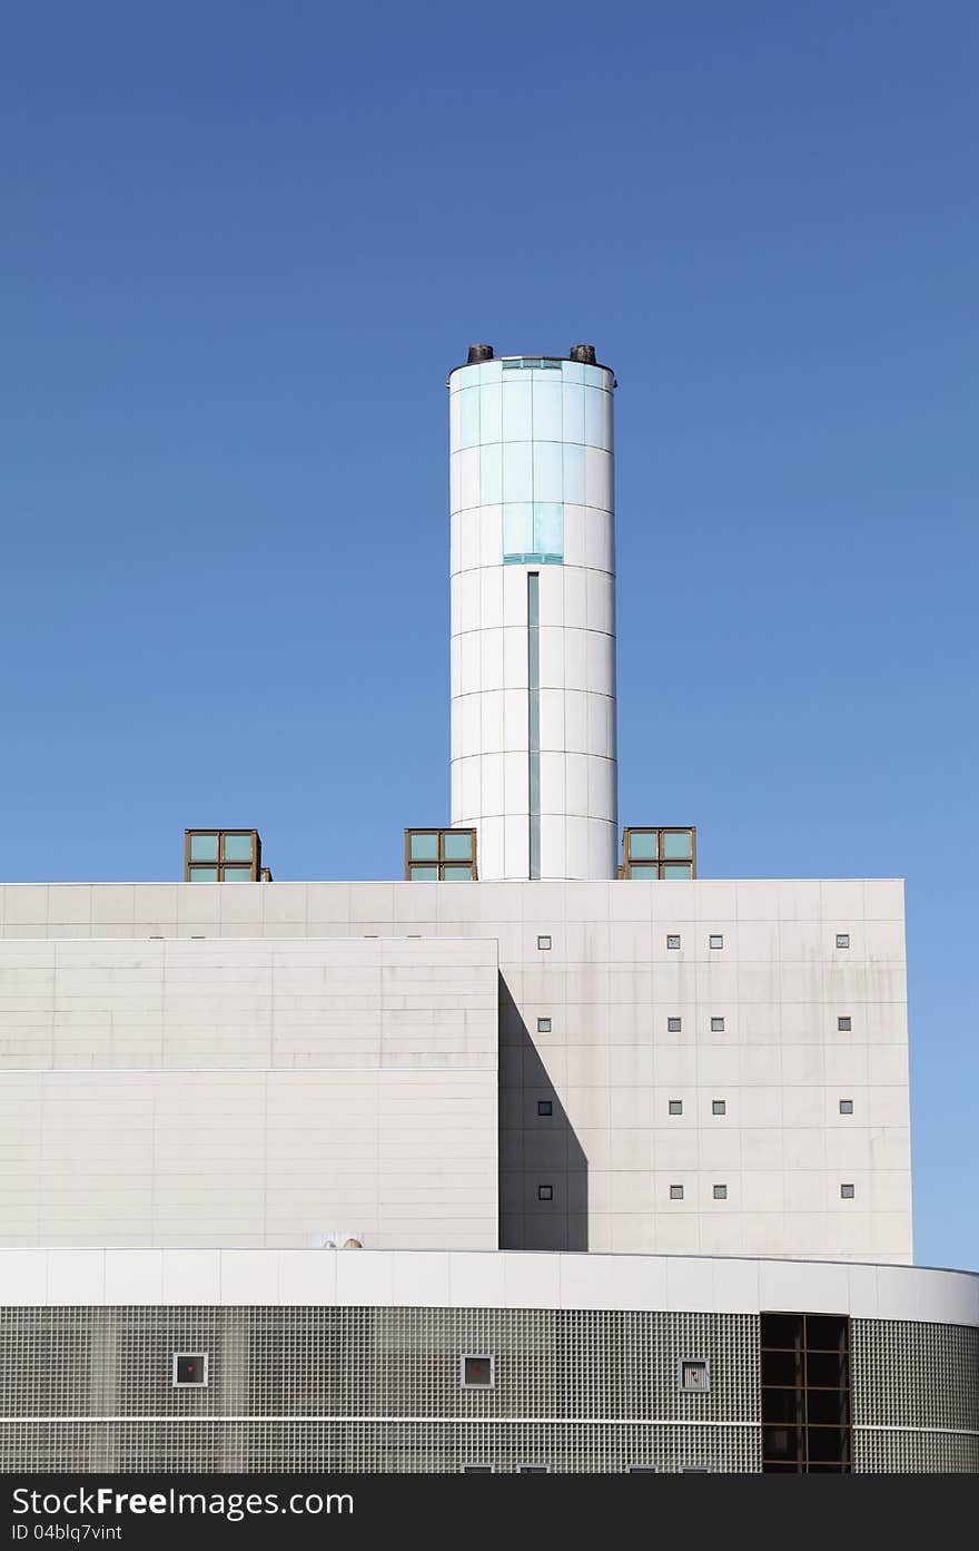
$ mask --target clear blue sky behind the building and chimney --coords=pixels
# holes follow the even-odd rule
[[[623,822],[905,876],[915,1250],[979,1263],[971,0],[51,0],[0,56],[0,876],[448,822],[469,341],[620,380]]]

